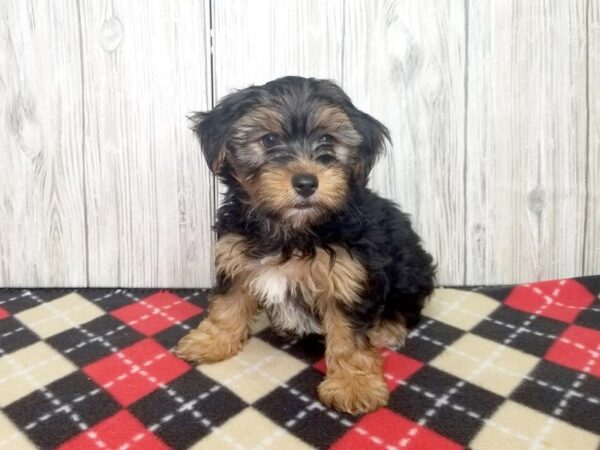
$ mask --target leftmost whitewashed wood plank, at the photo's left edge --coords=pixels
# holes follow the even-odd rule
[[[0,1],[0,286],[85,286],[77,4]]]

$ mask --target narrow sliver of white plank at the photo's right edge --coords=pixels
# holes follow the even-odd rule
[[[588,153],[583,272],[600,274],[600,3],[588,0]]]

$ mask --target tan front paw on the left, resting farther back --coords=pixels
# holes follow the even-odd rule
[[[196,330],[181,338],[175,354],[193,363],[218,362],[238,353],[243,341],[244,336],[223,331],[207,319]]]

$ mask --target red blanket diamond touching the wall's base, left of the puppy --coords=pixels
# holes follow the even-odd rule
[[[158,292],[150,297],[124,306],[112,315],[146,336],[152,336],[174,324],[201,314],[202,308],[168,292]]]

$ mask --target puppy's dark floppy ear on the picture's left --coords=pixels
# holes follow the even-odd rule
[[[200,140],[206,163],[215,175],[223,169],[233,125],[257,99],[258,91],[249,87],[223,97],[211,111],[188,116],[193,122],[192,130]]]

